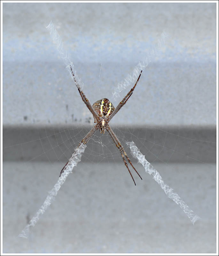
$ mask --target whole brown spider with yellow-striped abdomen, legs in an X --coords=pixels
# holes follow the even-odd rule
[[[122,99],[122,101],[118,104],[118,106],[116,108],[114,108],[113,104],[106,98],[96,101],[91,106],[90,101],[86,98],[85,94],[82,92],[82,90],[80,89],[79,84],[77,83],[77,81],[75,79],[75,76],[74,76],[71,65],[70,65],[70,69],[71,69],[72,77],[74,78],[74,82],[75,82],[75,84],[78,88],[78,91],[79,91],[80,95],[81,95],[81,98],[82,98],[83,102],[85,103],[85,105],[87,106],[87,108],[90,110],[91,114],[93,115],[94,123],[96,123],[96,125],[92,127],[90,132],[88,132],[87,135],[82,139],[82,141],[79,143],[78,147],[80,147],[80,145],[82,143],[86,144],[98,129],[100,130],[100,133],[103,133],[103,134],[105,133],[105,131],[107,131],[109,133],[110,137],[112,138],[113,142],[115,143],[116,147],[119,149],[119,151],[121,153],[121,157],[123,159],[123,162],[124,162],[126,168],[128,169],[129,174],[132,177],[132,180],[135,183],[135,180],[134,180],[134,178],[133,178],[133,176],[132,176],[132,174],[129,170],[129,167],[128,167],[128,164],[126,162],[125,157],[127,158],[128,162],[132,166],[132,168],[135,171],[136,171],[136,169],[133,166],[133,164],[132,164],[131,160],[129,159],[128,155],[126,154],[126,152],[125,152],[123,146],[121,145],[119,139],[117,138],[117,136],[113,132],[112,128],[109,126],[109,121],[113,118],[113,116],[115,116],[115,114],[121,109],[121,107],[123,107],[125,105],[127,100],[129,100],[129,98],[131,97],[131,95],[132,95],[132,93],[133,93],[133,91],[134,91],[134,89],[137,85],[137,82],[138,82],[138,80],[141,76],[142,70],[140,72],[140,75],[138,76],[138,79],[137,79],[135,85],[131,88],[131,90],[128,92],[128,94]],[[68,162],[69,162],[69,160],[68,160]],[[68,162],[62,168],[59,177],[64,172]],[[138,172],[137,172],[137,174],[141,178],[141,176]],[[136,183],[135,183],[135,185],[136,185]]]

